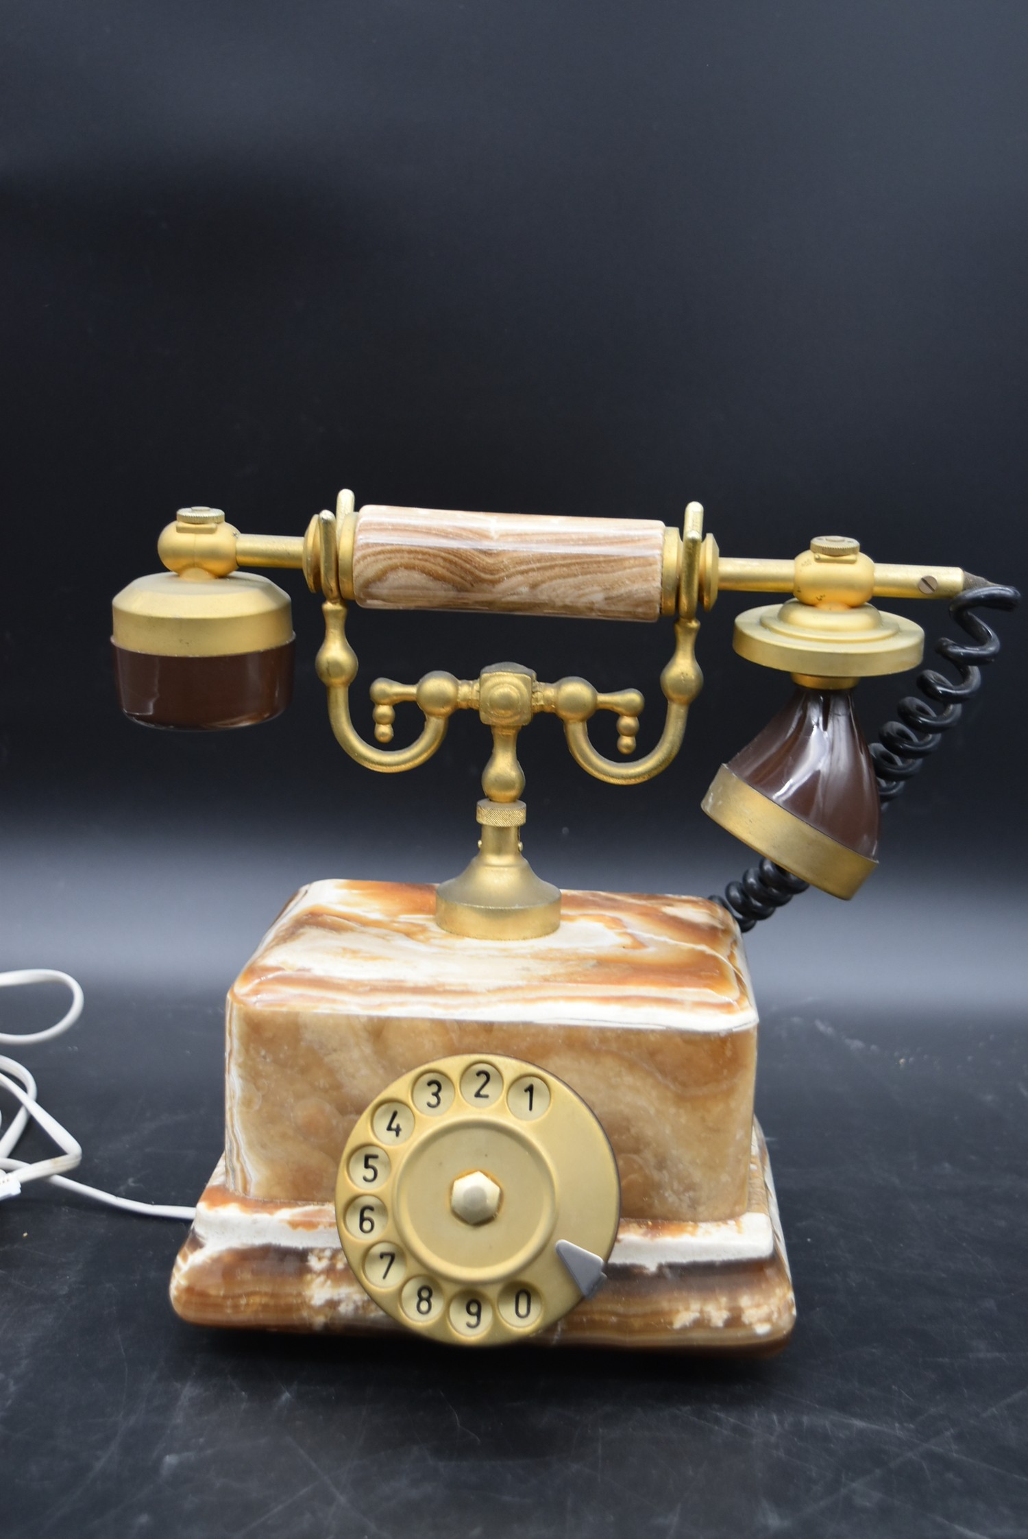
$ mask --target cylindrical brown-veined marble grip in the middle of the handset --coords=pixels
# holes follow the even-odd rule
[[[366,609],[656,620],[663,537],[653,519],[369,505],[357,517],[354,597]]]

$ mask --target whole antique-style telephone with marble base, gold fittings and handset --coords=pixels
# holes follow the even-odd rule
[[[283,910],[228,996],[226,1148],[172,1276],[186,1319],[377,1331],[452,1344],[773,1347],[794,1300],[760,1130],[757,1014],[739,937],[813,883],[851,897],[876,865],[880,800],[937,746],[999,649],[973,613],[1017,594],[953,566],[880,565],[856,540],[796,560],[729,559],[689,503],[651,520],[417,508],[314,517],[305,537],[240,534],[185,508],[165,573],[114,600],[122,708],[165,728],[268,720],[289,700],[289,600],[240,568],[302,568],[323,594],[317,671],[346,753],[425,763],[457,711],[492,736],[479,850],[439,888],[317,882]],[[793,676],[789,705],[705,811],[763,857],[725,899],[562,893],[522,851],[517,736],[559,717],[591,776],[634,785],[677,756],[702,676],[699,614],[720,589],[788,594],[736,620],[743,657]],[[868,749],[859,679],[920,662],[886,599],[950,599],[971,645]],[[371,685],[375,745],[349,716],[351,603],[674,622],[657,745],[632,757],[643,697],[520,663],[477,679]],[[392,740],[396,708],[423,728]],[[617,717],[620,762],[589,737]]]

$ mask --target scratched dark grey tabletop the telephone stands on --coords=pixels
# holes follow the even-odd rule
[[[203,1185],[214,986],[97,988],[26,1057],[91,1179]],[[165,1296],[180,1225],[6,1205],[5,1534],[1022,1536],[1026,1059],[1013,1013],[765,1011],[800,1322],[760,1362],[197,1330]]]

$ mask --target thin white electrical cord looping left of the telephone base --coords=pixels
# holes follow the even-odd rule
[[[75,979],[68,973],[57,973],[54,968],[48,966],[0,973],[0,988],[15,988],[20,983],[63,983],[71,990],[71,1005],[57,1025],[46,1027],[45,1031],[29,1031],[22,1034],[0,1031],[0,1043],[5,1047],[26,1047],[35,1042],[49,1042],[52,1037],[62,1036],[62,1033],[68,1031],[68,1028],[74,1027],[78,1020],[85,1002],[83,993]],[[0,1054],[0,1088],[9,1090],[11,1094],[22,1103],[11,1127],[6,1133],[0,1134],[0,1200],[3,1197],[17,1197],[25,1183],[29,1180],[49,1180],[54,1187],[65,1187],[68,1191],[78,1191],[85,1197],[92,1197],[95,1202],[106,1202],[111,1208],[123,1208],[126,1213],[143,1213],[151,1219],[189,1220],[195,1217],[195,1208],[177,1208],[169,1203],[159,1202],[132,1202],[131,1197],[115,1197],[112,1191],[100,1191],[97,1187],[86,1187],[82,1180],[68,1180],[62,1171],[74,1170],[75,1165],[80,1163],[82,1145],[72,1139],[68,1128],[62,1127],[57,1117],[52,1117],[45,1107],[40,1107],[35,1080],[25,1065],[18,1063],[15,1059],[5,1057],[3,1054]],[[25,1133],[29,1117],[34,1117],[43,1133],[48,1133],[54,1143],[63,1150],[62,1154],[54,1154],[51,1159],[40,1159],[34,1162],[14,1157],[12,1150]]]

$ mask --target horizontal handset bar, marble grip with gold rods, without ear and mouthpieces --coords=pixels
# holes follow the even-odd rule
[[[954,599],[982,579],[960,566],[871,562],[856,542],[828,539],[811,560],[722,556],[702,536],[703,509],[689,503],[685,528],[653,520],[562,519],[451,512],[420,508],[354,508],[339,496],[335,514],[317,514],[305,536],[243,534],[203,522],[211,509],[182,509],[159,543],[171,571],[203,568],[303,569],[325,597],[371,608],[496,609],[506,614],[574,614],[656,620],[709,609],[722,591],[791,593],[823,602],[823,563],[851,579],[843,602]],[[183,517],[185,516],[185,517]],[[217,514],[222,519],[222,514]],[[829,597],[834,602],[834,596]]]

